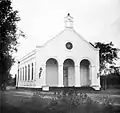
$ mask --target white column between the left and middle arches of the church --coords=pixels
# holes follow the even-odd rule
[[[63,86],[63,65],[58,65],[58,86],[59,87],[64,87]]]

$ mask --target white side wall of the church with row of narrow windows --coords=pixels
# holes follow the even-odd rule
[[[17,87],[35,87],[36,84],[36,54],[26,55],[18,63]]]

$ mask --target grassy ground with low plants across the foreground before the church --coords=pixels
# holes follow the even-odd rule
[[[58,98],[52,93],[9,90],[0,91],[0,102],[2,113],[120,113],[120,96],[100,92]]]

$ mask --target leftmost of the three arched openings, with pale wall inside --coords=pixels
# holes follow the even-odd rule
[[[54,58],[50,58],[46,62],[46,84],[58,86],[58,62]]]

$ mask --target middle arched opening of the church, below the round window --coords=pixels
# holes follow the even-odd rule
[[[66,59],[63,63],[63,85],[64,87],[75,85],[74,61]]]

